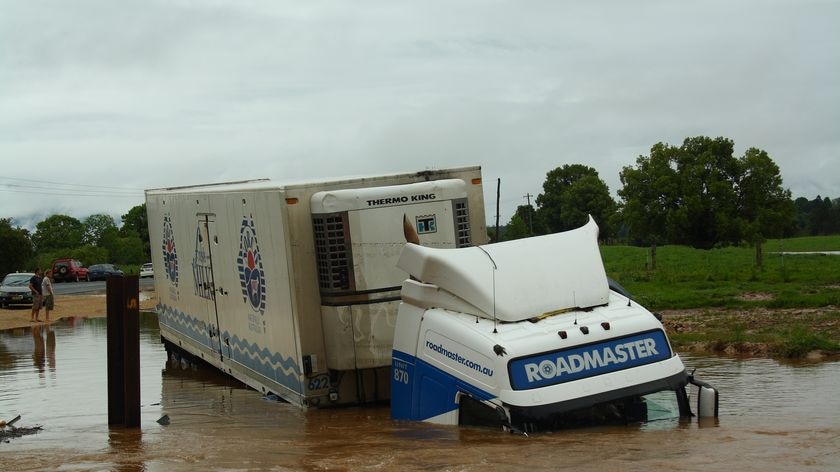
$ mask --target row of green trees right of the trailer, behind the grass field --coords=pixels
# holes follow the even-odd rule
[[[680,146],[657,143],[622,168],[618,201],[592,167],[557,167],[547,173],[536,208],[519,206],[498,239],[567,231],[587,215],[602,240],[633,245],[708,249],[840,233],[840,199],[794,201],[767,152],[749,148],[735,156],[734,147],[730,139],[706,136]]]

